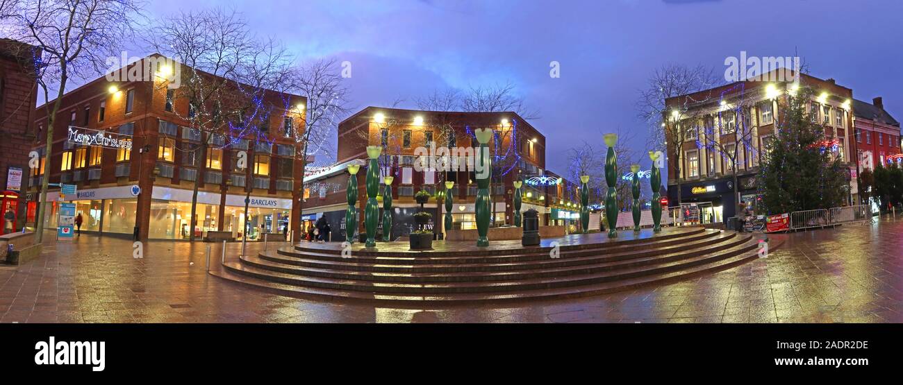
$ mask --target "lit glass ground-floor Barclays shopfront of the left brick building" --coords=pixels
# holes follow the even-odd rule
[[[149,239],[189,239],[191,236],[192,191],[182,188],[155,187],[151,191],[150,206],[139,207],[132,186],[89,188],[79,190],[75,196],[60,198],[59,192],[49,192],[48,215],[44,216],[45,228],[57,225],[59,202],[76,205],[76,215],[81,215],[81,231],[132,237],[137,223],[137,213],[148,213],[146,224]],[[29,213],[36,202],[29,202]],[[195,206],[196,238],[211,231],[230,232],[240,240],[256,240],[263,234],[283,234],[291,229],[292,199],[251,196],[245,215],[245,196],[199,192]],[[247,220],[246,220],[247,218]],[[33,221],[33,217],[31,218]],[[247,232],[244,230],[247,225]]]

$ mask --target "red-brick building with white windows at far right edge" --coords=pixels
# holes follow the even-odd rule
[[[903,163],[900,151],[900,124],[887,111],[880,97],[872,103],[853,99],[853,128],[855,129],[856,170],[862,171],[868,165],[864,157],[870,157],[872,165],[879,162]],[[858,199],[855,199],[858,201]]]

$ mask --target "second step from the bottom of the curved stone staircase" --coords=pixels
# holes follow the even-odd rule
[[[750,238],[746,238],[749,241]],[[465,282],[442,282],[442,283],[397,283],[397,282],[374,282],[367,280],[343,280],[332,279],[326,277],[298,276],[294,274],[278,272],[273,270],[260,269],[254,266],[238,262],[227,262],[224,266],[228,270],[237,273],[247,274],[254,278],[273,280],[280,283],[291,284],[295,286],[313,287],[320,289],[342,289],[365,291],[369,293],[399,293],[414,295],[433,295],[433,294],[452,294],[452,293],[488,293],[498,291],[523,291],[533,289],[551,289],[561,287],[573,287],[582,285],[591,285],[596,283],[627,280],[638,278],[644,275],[666,273],[672,270],[680,270],[702,265],[709,262],[720,261],[730,258],[744,252],[755,255],[753,252],[756,248],[755,243],[745,242],[743,244],[732,246],[729,249],[693,256],[679,261],[656,261],[656,263],[627,267],[619,270],[603,270],[596,272],[580,273],[568,275],[564,277],[542,277],[526,280],[493,280],[489,282],[482,281],[465,281]]]

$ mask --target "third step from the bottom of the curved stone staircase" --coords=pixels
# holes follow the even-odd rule
[[[736,239],[735,239],[736,238]],[[536,261],[529,264],[506,264],[507,270],[484,270],[492,265],[470,265],[468,270],[454,271],[391,271],[374,272],[367,270],[336,270],[310,267],[298,267],[289,263],[270,261],[262,256],[242,257],[241,261],[250,266],[263,269],[284,272],[288,274],[332,278],[338,280],[369,280],[377,282],[407,282],[407,283],[434,283],[434,282],[466,282],[466,281],[490,281],[490,280],[528,280],[544,277],[563,277],[569,275],[585,274],[599,271],[618,270],[635,266],[646,266],[667,261],[679,261],[708,252],[719,252],[748,241],[731,235],[716,239],[722,241],[716,244],[697,245],[691,249],[669,250],[665,253],[657,253],[650,256],[636,256],[629,259],[613,259],[610,257],[581,257],[567,260],[565,258]],[[700,248],[705,246],[704,249]],[[563,262],[574,262],[566,264]],[[347,266],[346,266],[347,267]],[[447,266],[448,267],[448,266]],[[459,266],[451,266],[456,268]],[[495,267],[495,266],[493,266]],[[434,266],[412,267],[412,269],[441,270]]]

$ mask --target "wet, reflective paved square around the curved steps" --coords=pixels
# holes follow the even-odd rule
[[[903,322],[903,217],[777,236],[785,243],[766,259],[671,285],[417,310],[288,298],[221,280],[207,274],[205,255],[209,246],[218,263],[222,243],[151,241],[135,259],[131,241],[49,235],[41,258],[0,265],[0,322]],[[241,243],[226,248],[234,260]]]

